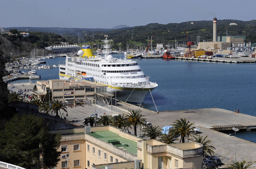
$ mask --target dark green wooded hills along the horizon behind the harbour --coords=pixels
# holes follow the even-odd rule
[[[191,24],[193,22],[193,24]],[[237,25],[230,25],[236,23]],[[65,39],[73,43],[99,44],[100,40],[108,35],[109,39],[114,42],[113,48],[119,49],[119,45],[126,50],[126,44],[130,48],[135,48],[134,44],[148,44],[151,36],[153,36],[152,44],[157,43],[172,44],[175,40],[180,44],[186,44],[187,35],[191,37],[194,44],[197,42],[212,41],[213,38],[213,21],[189,21],[182,23],[158,24],[152,23],[145,26],[124,27],[121,29],[83,29],[83,28],[35,28],[35,27],[19,27],[13,28],[21,31],[28,29],[29,32],[41,31],[59,34]],[[5,28],[6,29],[6,28]],[[10,29],[10,28],[7,28]],[[256,20],[218,20],[217,36],[246,36],[246,42],[256,42]],[[79,38],[78,38],[79,37]],[[80,41],[79,41],[80,40]],[[98,43],[99,42],[99,43]],[[94,45],[95,47],[95,45]],[[141,47],[141,46],[136,46]]]

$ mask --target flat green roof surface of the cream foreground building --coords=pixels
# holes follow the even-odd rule
[[[137,142],[123,138],[118,134],[113,133],[112,131],[96,131],[96,132],[90,133],[90,135],[106,143],[108,143],[109,141],[110,142],[115,141],[115,144],[113,145],[115,145],[116,147],[119,147],[124,151],[137,155],[137,149],[136,149]],[[120,144],[117,144],[117,141],[119,141]]]

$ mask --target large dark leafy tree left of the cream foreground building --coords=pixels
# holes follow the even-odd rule
[[[39,162],[40,168],[48,168],[56,166],[60,160],[58,148],[61,136],[49,133],[40,117],[16,114],[0,134],[0,140],[3,138],[6,141],[0,146],[0,156],[4,157],[4,162],[31,168],[34,159]]]

